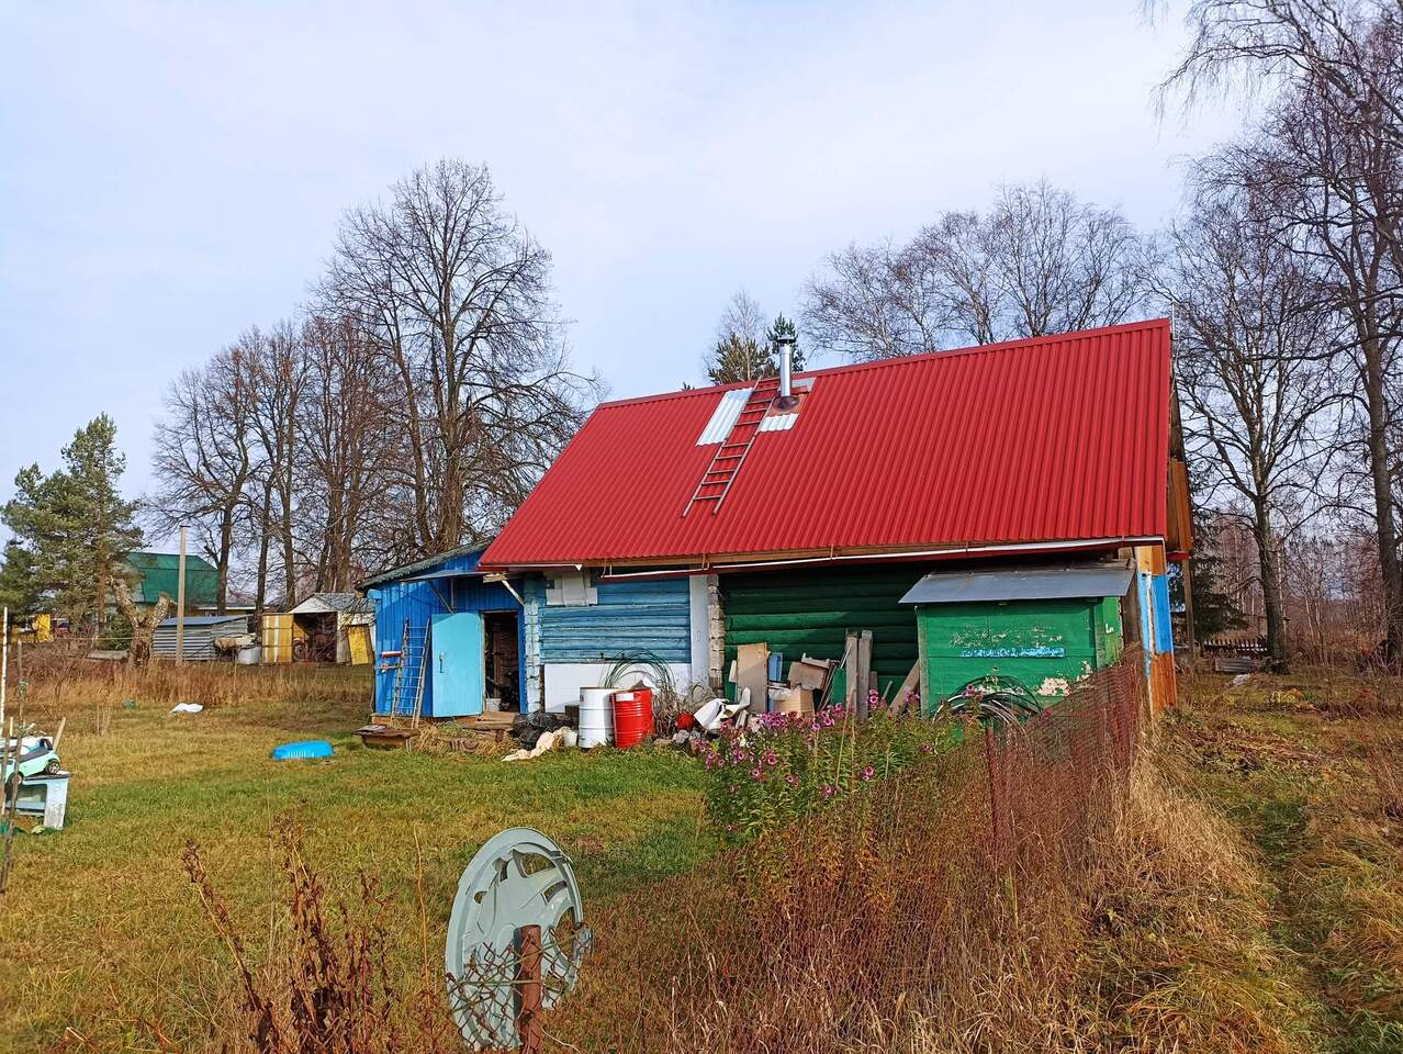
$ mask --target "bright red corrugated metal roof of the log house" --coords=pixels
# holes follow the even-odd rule
[[[483,566],[1163,538],[1169,320],[812,371],[725,500],[682,512],[727,389],[599,406]],[[731,386],[738,387],[738,386]]]

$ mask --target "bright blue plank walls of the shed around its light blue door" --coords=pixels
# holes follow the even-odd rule
[[[473,571],[481,559],[481,552],[462,553],[435,564],[432,568],[421,568],[417,574],[429,570],[436,571]],[[438,578],[418,582],[382,582],[369,589],[370,599],[375,601],[375,712],[387,714],[390,702],[394,698],[394,669],[382,669],[380,653],[398,651],[404,640],[404,622],[408,619],[411,634],[422,634],[428,630],[429,619],[435,615],[450,612],[481,612],[481,611],[512,611],[521,616],[521,605],[502,585],[484,582],[481,578]],[[519,678],[519,695],[522,706],[526,705],[526,664],[525,664],[525,619],[516,620],[516,646],[522,655],[522,671]],[[434,716],[434,678],[432,664],[429,676],[424,682],[425,716]]]

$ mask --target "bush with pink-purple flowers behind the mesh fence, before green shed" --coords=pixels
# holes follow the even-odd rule
[[[880,705],[866,723],[840,709],[760,714],[725,728],[697,754],[711,785],[707,811],[725,841],[741,842],[798,820],[950,742],[946,726],[894,716]]]

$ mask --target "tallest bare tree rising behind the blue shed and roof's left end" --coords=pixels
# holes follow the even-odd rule
[[[443,160],[347,213],[321,300],[390,362],[405,465],[405,556],[485,536],[581,420],[550,254],[501,208],[487,168]]]

